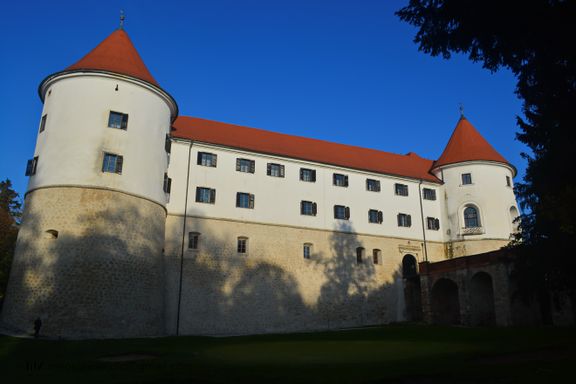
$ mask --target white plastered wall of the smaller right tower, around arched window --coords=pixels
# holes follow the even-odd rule
[[[472,184],[462,185],[462,174],[472,175]],[[451,240],[509,239],[514,232],[510,208],[518,209],[513,182],[506,185],[506,176],[513,180],[510,167],[499,163],[467,162],[449,165],[437,171],[444,180],[446,192],[446,228]],[[474,205],[480,214],[484,233],[462,236],[464,208]]]

